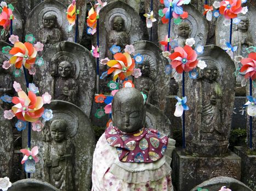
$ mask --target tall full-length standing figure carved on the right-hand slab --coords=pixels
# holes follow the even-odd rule
[[[221,96],[222,89],[217,82],[218,68],[213,61],[207,63],[202,71],[202,118],[201,139],[223,140],[221,121]]]

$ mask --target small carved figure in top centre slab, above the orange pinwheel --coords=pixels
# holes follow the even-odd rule
[[[117,45],[123,50],[124,47],[129,44],[129,35],[126,33],[126,25],[121,16],[116,16],[113,19],[112,31],[109,33],[107,42],[109,44],[109,49],[112,45]],[[112,53],[109,51],[109,55],[107,56],[112,58]]]

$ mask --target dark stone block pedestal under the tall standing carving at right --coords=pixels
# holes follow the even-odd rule
[[[240,180],[241,158],[235,153],[223,157],[197,157],[187,155],[180,148],[173,154],[173,184],[177,191],[190,190],[197,184],[217,176]]]

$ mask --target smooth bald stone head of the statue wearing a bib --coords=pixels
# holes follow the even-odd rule
[[[136,88],[120,89],[112,101],[113,125],[126,133],[143,128],[145,121],[144,99]]]

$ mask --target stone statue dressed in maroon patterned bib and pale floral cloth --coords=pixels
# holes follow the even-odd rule
[[[175,141],[144,128],[140,91],[120,89],[112,101],[112,117],[113,126],[105,130],[94,151],[92,190],[173,190],[170,157]]]

